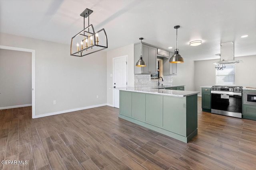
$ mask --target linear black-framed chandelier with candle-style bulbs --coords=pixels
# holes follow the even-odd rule
[[[88,17],[88,27],[85,27],[84,24],[84,29],[72,37],[70,45],[70,55],[72,56],[82,57],[108,48],[108,39],[105,29],[102,28],[95,32],[93,25],[89,24],[89,16],[92,12],[92,10],[86,8],[84,12],[80,14],[84,20]]]

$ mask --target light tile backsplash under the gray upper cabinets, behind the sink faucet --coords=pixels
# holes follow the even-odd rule
[[[160,84],[163,85],[172,85],[173,77],[172,76],[163,76],[164,81],[160,79]],[[150,74],[134,74],[134,87],[143,87],[143,86],[157,86],[157,80],[151,80]]]

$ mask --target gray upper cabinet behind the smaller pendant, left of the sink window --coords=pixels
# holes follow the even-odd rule
[[[157,48],[142,43],[142,58],[146,63],[144,67],[135,66],[140,59],[140,43],[134,45],[134,74],[156,74]]]

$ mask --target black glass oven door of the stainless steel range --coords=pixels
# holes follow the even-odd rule
[[[212,93],[212,109],[242,113],[242,95],[225,92],[218,93]]]

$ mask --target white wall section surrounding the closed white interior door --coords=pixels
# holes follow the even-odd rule
[[[127,55],[127,67],[128,67],[128,87],[134,87],[134,44],[130,44],[118,49],[114,49],[107,52],[107,103],[113,105],[113,90],[109,89],[114,86],[113,77],[113,58]]]

